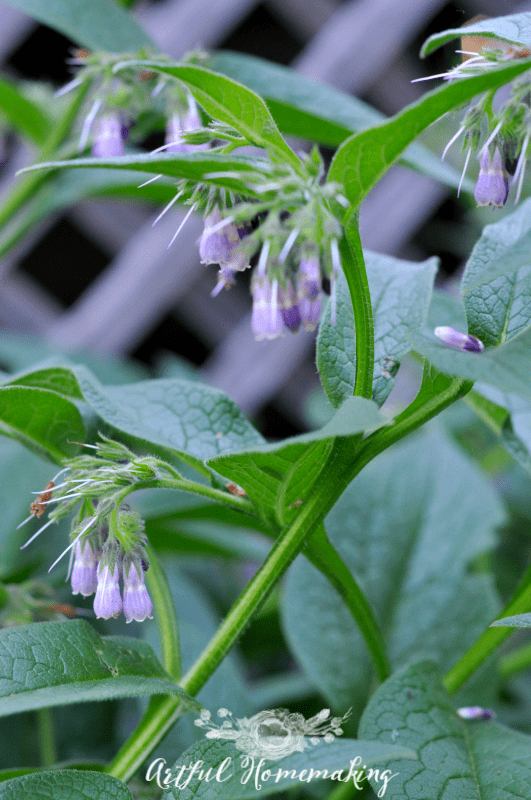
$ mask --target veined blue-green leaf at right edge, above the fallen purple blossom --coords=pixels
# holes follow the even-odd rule
[[[487,225],[468,260],[461,294],[468,330],[503,344],[531,326],[531,199]]]

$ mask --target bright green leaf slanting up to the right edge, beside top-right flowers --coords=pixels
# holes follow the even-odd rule
[[[531,59],[509,62],[485,75],[448,83],[407,106],[388,122],[347,139],[337,151],[328,180],[342,184],[358,206],[398,156],[435,120],[481,92],[496,89],[528,70]]]

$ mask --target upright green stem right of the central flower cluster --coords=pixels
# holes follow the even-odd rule
[[[374,372],[374,325],[369,282],[358,228],[358,210],[343,221],[345,238],[340,242],[341,263],[350,291],[356,326],[356,381],[354,394],[372,397]]]

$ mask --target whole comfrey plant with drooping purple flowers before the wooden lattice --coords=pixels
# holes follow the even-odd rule
[[[531,615],[531,16],[468,27],[486,49],[358,130],[374,118],[359,101],[282,67],[156,55],[121,4],[16,4],[91,49],[45,105],[0,82],[0,110],[38,149],[3,198],[0,252],[72,197],[147,198],[159,219],[181,204],[181,226],[201,214],[212,294],[252,271],[264,349],[319,328],[330,419],[267,442],[199,380],[127,383],[116,362],[107,386],[83,364],[28,368],[0,337],[0,431],[18,440],[1,443],[0,718],[38,722],[0,719],[0,795],[155,798],[156,775],[164,800],[242,786],[337,799],[367,783],[396,800],[531,797],[529,690],[515,680],[531,650],[509,641]],[[461,138],[461,176],[409,147],[455,111],[446,150]],[[329,165],[320,145],[336,148]],[[435,287],[437,259],[362,246],[360,204],[403,154],[493,207],[459,297]],[[98,738],[111,728],[119,749]]]

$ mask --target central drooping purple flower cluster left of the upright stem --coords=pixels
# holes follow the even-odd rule
[[[220,126],[216,132],[227,135]],[[254,169],[242,173],[239,194],[201,183],[177,183],[171,204],[184,197],[191,209],[204,215],[201,262],[219,265],[212,296],[233,285],[236,274],[256,259],[251,324],[258,341],[275,339],[286,329],[315,330],[325,293],[331,296],[335,323],[343,231],[332,205],[348,203],[336,184],[322,182],[323,174],[315,150],[301,162],[300,173],[286,164],[255,159]],[[205,176],[209,177],[213,176]]]

